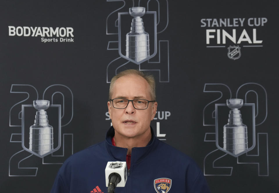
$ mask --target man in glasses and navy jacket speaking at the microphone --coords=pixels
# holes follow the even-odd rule
[[[210,192],[195,162],[161,142],[150,126],[157,102],[155,81],[138,70],[112,78],[108,112],[112,120],[106,140],[68,158],[51,192],[107,192],[108,161],[127,161],[128,179],[116,193]]]

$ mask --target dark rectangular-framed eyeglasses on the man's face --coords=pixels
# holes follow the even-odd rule
[[[110,99],[112,101],[112,106],[114,108],[118,109],[124,109],[128,106],[129,102],[132,101],[133,107],[135,109],[147,109],[148,104],[150,102],[155,102],[155,101],[148,101],[145,99],[133,99],[133,100],[128,100],[128,99]]]

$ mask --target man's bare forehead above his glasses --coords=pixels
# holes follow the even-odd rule
[[[119,96],[126,98],[143,96],[145,99],[151,99],[149,84],[141,76],[121,76],[115,81],[112,88],[112,98]]]

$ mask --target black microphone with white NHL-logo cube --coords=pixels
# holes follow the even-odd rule
[[[125,187],[126,181],[126,162],[108,162],[105,167],[105,183],[108,193],[113,193],[115,187]]]

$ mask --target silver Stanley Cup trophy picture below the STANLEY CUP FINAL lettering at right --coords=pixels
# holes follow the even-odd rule
[[[227,106],[231,110],[228,124],[224,125],[223,148],[236,155],[248,149],[247,126],[242,123],[238,110],[243,106],[243,100],[228,99]]]

